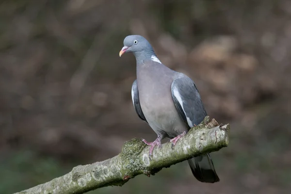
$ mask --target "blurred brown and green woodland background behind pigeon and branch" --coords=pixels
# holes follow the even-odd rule
[[[290,0],[2,0],[0,194],[153,141],[131,102],[136,66],[123,39],[145,36],[230,123],[212,153],[220,182],[187,162],[89,194],[285,194],[291,190]]]

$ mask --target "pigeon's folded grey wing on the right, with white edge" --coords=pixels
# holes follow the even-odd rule
[[[189,128],[200,124],[207,116],[195,83],[189,77],[176,78],[171,92],[177,111]]]

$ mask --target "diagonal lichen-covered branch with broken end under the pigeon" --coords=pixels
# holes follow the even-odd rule
[[[82,194],[101,187],[121,186],[137,175],[149,177],[164,167],[226,147],[229,129],[229,124],[218,125],[207,116],[179,139],[173,149],[169,142],[161,148],[155,147],[151,159],[149,147],[141,139],[134,138],[127,141],[121,153],[111,159],[76,166],[62,177],[16,194]]]

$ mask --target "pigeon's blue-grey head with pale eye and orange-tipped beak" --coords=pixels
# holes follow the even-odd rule
[[[141,35],[129,35],[123,41],[124,47],[120,50],[119,56],[125,52],[132,52],[137,64],[151,57],[156,57],[156,53],[149,42]]]

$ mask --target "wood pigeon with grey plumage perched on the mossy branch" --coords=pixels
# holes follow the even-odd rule
[[[155,146],[161,147],[163,138],[170,138],[172,147],[175,146],[207,113],[194,81],[163,65],[146,38],[129,35],[123,44],[119,56],[132,52],[136,59],[136,80],[131,88],[134,109],[158,135],[154,142],[143,139],[150,146],[151,156]],[[188,163],[197,180],[219,181],[209,153],[194,157]]]

